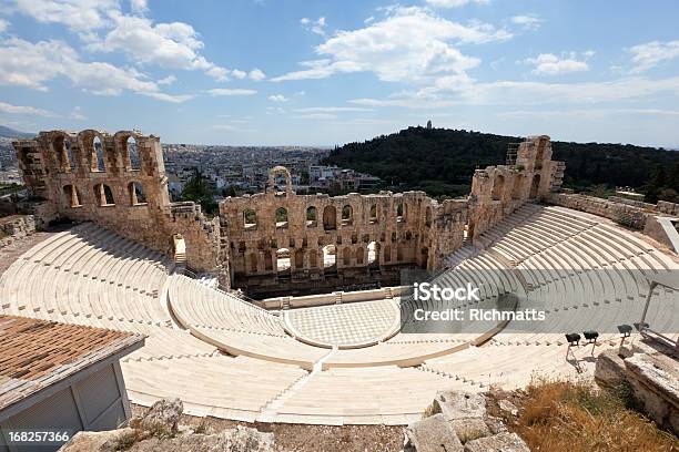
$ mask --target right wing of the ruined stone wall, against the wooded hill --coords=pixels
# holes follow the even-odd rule
[[[474,240],[528,201],[544,201],[561,186],[565,165],[551,160],[549,136],[518,145],[515,162],[477,170],[469,195],[467,237]]]

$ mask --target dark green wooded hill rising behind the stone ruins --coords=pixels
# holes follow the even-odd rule
[[[325,164],[378,176],[393,187],[423,189],[429,196],[460,196],[469,192],[474,170],[504,164],[507,145],[523,141],[465,130],[408,127],[363,143],[348,143],[331,152]],[[631,144],[551,142],[555,161],[566,162],[564,187],[590,191],[628,186],[649,191],[649,198],[679,181],[679,152]],[[667,185],[649,185],[658,168],[665,168]],[[670,170],[668,170],[670,168]],[[657,195],[655,194],[657,193]],[[670,199],[667,199],[670,201]]]

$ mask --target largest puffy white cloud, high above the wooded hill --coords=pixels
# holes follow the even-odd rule
[[[479,60],[464,55],[458,43],[504,41],[505,30],[480,22],[460,24],[411,7],[392,8],[387,17],[354,31],[338,31],[316,47],[323,56],[300,63],[301,71],[273,81],[323,79],[343,72],[374,72],[389,82],[425,82],[443,75],[464,75]]]

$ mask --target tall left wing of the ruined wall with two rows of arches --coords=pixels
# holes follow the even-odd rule
[[[135,131],[52,131],[13,145],[33,199],[29,204],[44,210],[43,222],[94,222],[169,256],[172,236],[182,234],[191,268],[223,266],[219,222],[209,222],[197,206],[189,215],[173,210],[159,137]]]

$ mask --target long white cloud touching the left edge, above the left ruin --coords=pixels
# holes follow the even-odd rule
[[[160,93],[156,82],[136,70],[104,62],[83,62],[71,47],[61,41],[32,43],[18,38],[0,41],[0,84],[47,91],[45,82],[58,76],[64,76],[77,88],[93,94],[119,95],[128,90],[156,99],[168,96]],[[186,100],[174,96],[174,101],[178,99]]]

